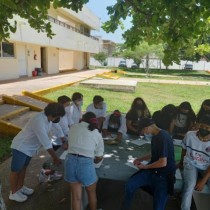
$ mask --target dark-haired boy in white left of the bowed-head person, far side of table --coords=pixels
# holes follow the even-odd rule
[[[93,103],[87,107],[86,111],[93,112],[96,115],[98,129],[100,130],[106,116],[106,103],[104,102],[104,98],[98,95],[94,96]]]

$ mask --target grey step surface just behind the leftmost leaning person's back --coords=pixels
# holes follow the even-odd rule
[[[13,125],[18,126],[20,128],[23,128],[26,125],[26,123],[31,119],[31,117],[33,117],[37,113],[38,112],[35,111],[23,112],[15,116],[14,118],[6,119],[5,121],[10,122]]]

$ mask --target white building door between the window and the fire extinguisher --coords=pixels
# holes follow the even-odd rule
[[[26,64],[26,47],[25,45],[17,45],[17,60],[19,76],[27,75],[27,64]]]

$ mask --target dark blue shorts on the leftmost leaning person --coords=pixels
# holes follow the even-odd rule
[[[19,172],[24,167],[27,167],[31,161],[31,157],[16,150],[12,149],[12,162],[11,162],[11,171]]]

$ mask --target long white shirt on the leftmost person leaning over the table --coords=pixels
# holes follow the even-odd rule
[[[36,154],[41,146],[45,150],[52,148],[49,138],[51,125],[52,122],[48,121],[44,112],[36,114],[15,136],[11,148],[19,150],[30,157]]]

